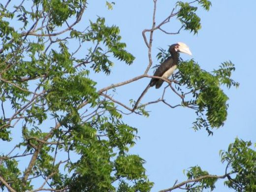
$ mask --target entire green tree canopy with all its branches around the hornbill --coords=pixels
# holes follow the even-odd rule
[[[152,46],[155,31],[177,19],[181,30],[197,34],[201,28],[197,7],[210,9],[209,0],[178,1],[161,23],[156,23],[157,0],[153,0],[153,25],[143,38],[148,48],[148,65],[140,76],[98,89],[93,78],[111,75],[115,62],[131,65],[135,57],[126,49],[117,26],[105,18],[90,20],[87,0],[19,0],[0,3],[0,142],[13,145],[0,154],[0,187],[23,191],[117,191],[147,192],[145,160],[129,153],[139,139],[137,128],[125,122],[133,112],[130,105],[111,94],[118,87],[142,78],[152,78]],[[115,2],[106,1],[113,9]],[[89,21],[81,28],[79,23]],[[149,36],[147,36],[149,34]],[[83,57],[81,57],[83,53]],[[161,63],[168,53],[160,49]],[[223,86],[238,87],[231,79],[234,64],[224,61],[208,72],[194,60],[181,60],[178,71],[166,82],[162,97],[140,104],[137,115],[149,116],[147,105],[163,102],[194,110],[195,130],[213,134],[224,125],[228,96]],[[161,78],[161,77],[155,77]],[[172,106],[164,98],[172,90],[180,103]],[[184,109],[185,110],[185,109]],[[16,133],[15,136],[14,132]],[[224,175],[211,175],[199,166],[186,171],[187,181],[163,192],[184,187],[187,191],[215,188],[217,179],[236,191],[256,190],[256,152],[251,142],[236,139],[221,152]],[[26,167],[21,166],[26,162]],[[39,183],[39,184],[38,184]]]

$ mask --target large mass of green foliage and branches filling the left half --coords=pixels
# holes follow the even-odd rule
[[[18,155],[1,154],[0,176],[16,191],[34,189],[37,178],[54,190],[149,191],[145,160],[128,154],[137,129],[99,95],[90,75],[109,75],[114,61],[133,63],[119,28],[101,17],[75,28],[86,0],[16,3],[0,3],[0,139],[13,141],[15,129],[22,141],[14,147]],[[112,9],[114,2],[106,3]],[[18,157],[30,157],[26,169]]]

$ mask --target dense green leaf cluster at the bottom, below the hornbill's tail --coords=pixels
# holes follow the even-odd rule
[[[148,191],[152,183],[145,175],[145,160],[127,154],[129,147],[135,144],[137,129],[120,121],[122,115],[113,103],[103,102],[102,106],[112,114],[110,118],[97,115],[91,122],[71,127],[72,139],[66,150],[75,151],[81,158],[66,165],[70,172],[75,170],[66,184],[69,183],[70,190],[97,192],[115,191],[113,182],[133,183],[129,189]],[[70,129],[70,125],[67,128]]]

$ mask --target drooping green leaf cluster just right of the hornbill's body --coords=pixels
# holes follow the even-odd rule
[[[178,65],[179,72],[175,76],[181,86],[185,86],[192,99],[183,104],[194,105],[198,116],[194,122],[194,128],[219,128],[223,126],[227,116],[226,103],[228,97],[221,86],[238,86],[238,83],[230,79],[231,71],[235,70],[234,64],[225,62],[220,69],[212,73],[200,68],[193,60],[181,61]],[[207,120],[204,119],[204,115]]]

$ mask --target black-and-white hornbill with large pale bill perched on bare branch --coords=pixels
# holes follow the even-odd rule
[[[182,43],[182,42],[178,42],[173,45],[170,45],[168,51],[171,56],[168,57],[162,64],[160,64],[160,66],[157,68],[156,72],[154,73],[154,76],[163,77],[163,78],[168,79],[172,75],[174,70],[177,68],[177,64],[178,64],[178,60],[179,60],[179,56],[180,56],[180,54],[178,52],[186,53],[186,54],[192,56],[192,53],[191,53],[188,45],[186,45],[185,43]],[[148,89],[150,87],[156,86],[156,89],[159,89],[161,87],[162,83],[163,83],[162,79],[152,78],[149,85],[139,96],[132,111],[134,111],[137,108],[141,98],[146,94],[146,92],[148,91]]]

